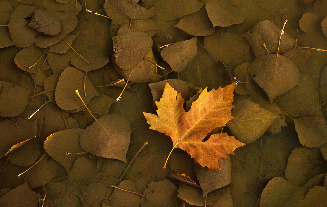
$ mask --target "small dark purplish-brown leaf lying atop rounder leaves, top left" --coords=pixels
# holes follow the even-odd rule
[[[27,24],[44,35],[56,35],[61,30],[60,20],[48,10],[36,9]]]

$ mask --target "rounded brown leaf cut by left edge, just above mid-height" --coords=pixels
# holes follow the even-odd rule
[[[14,117],[22,113],[28,101],[30,90],[19,85],[0,81],[0,116]]]

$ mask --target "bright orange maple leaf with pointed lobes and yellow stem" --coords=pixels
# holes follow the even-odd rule
[[[162,98],[156,101],[158,115],[143,114],[150,129],[165,133],[173,141],[168,158],[174,148],[181,148],[202,167],[220,170],[218,160],[227,159],[234,149],[245,145],[226,133],[213,134],[202,142],[213,129],[225,126],[226,122],[234,118],[231,116],[234,88],[235,83],[209,92],[205,88],[191,109],[185,112],[181,93],[166,83]]]

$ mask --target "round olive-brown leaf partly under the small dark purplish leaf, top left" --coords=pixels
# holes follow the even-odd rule
[[[9,17],[9,34],[12,42],[17,47],[29,47],[35,42],[37,31],[26,27],[28,21],[25,18],[32,16],[36,7],[20,5],[13,9]]]

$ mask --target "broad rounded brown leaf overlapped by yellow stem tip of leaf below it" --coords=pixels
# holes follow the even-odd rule
[[[61,73],[55,94],[56,103],[61,109],[66,111],[77,109],[78,111],[81,111],[85,108],[82,101],[75,93],[76,89],[78,89],[80,93],[83,93],[84,78],[85,74],[75,67],[67,67]],[[88,104],[93,97],[99,95],[87,77],[85,81],[85,91],[86,97],[81,95],[85,104]]]

